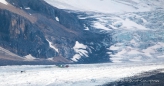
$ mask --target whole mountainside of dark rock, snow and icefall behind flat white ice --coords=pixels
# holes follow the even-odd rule
[[[0,46],[30,61],[160,60],[163,4],[163,0],[0,0]]]

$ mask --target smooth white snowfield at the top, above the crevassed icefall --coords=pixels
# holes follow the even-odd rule
[[[163,8],[163,0],[45,0],[60,9],[101,13],[143,12]]]

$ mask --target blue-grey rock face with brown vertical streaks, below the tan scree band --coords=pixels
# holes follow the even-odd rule
[[[35,57],[47,58],[55,56],[49,48],[43,33],[27,19],[0,10],[0,45],[20,56],[32,54]]]

